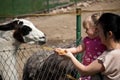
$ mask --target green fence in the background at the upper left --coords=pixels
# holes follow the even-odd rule
[[[49,11],[51,8],[80,0],[0,0],[0,17]]]

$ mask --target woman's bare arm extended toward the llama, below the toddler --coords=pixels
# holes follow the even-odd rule
[[[104,71],[104,66],[102,62],[99,60],[95,60],[90,65],[84,66],[74,57],[74,55],[71,52],[67,52],[64,55],[66,55],[67,57],[71,59],[71,61],[73,62],[75,67],[79,70],[82,76],[93,75],[98,72]]]

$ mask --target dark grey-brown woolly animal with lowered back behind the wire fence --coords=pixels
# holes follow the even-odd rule
[[[49,57],[44,58],[41,57],[41,54],[45,54],[42,52],[29,57],[24,65],[22,80],[76,80],[77,70],[72,62],[54,52],[50,53]]]

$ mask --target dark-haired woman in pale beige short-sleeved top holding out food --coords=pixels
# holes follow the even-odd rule
[[[59,55],[67,56],[81,75],[102,73],[102,80],[120,80],[120,16],[113,13],[103,13],[97,25],[99,36],[107,50],[91,64],[87,66],[81,64],[69,50]],[[56,52],[58,53],[58,50]]]

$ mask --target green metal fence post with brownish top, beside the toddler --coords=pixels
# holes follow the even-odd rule
[[[76,45],[78,46],[81,42],[81,8],[76,8]],[[76,56],[77,60],[81,62],[81,54]],[[76,78],[78,79],[80,74],[77,73]]]

